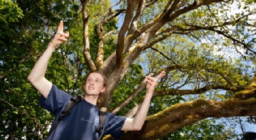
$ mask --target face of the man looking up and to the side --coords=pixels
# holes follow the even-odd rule
[[[91,73],[85,82],[85,93],[89,95],[99,95],[105,91],[104,79],[99,73]]]

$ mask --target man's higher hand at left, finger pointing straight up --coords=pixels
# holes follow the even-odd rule
[[[62,44],[64,41],[67,41],[66,38],[69,37],[69,32],[63,32],[63,21],[60,21],[57,33],[52,38],[52,41],[49,43],[48,47],[58,47],[59,44]]]

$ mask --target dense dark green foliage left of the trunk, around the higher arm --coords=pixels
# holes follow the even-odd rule
[[[64,14],[66,9],[73,9],[69,12],[78,15],[77,6],[77,3],[71,2],[70,5],[54,6],[47,1],[1,3],[1,138],[38,139],[47,133],[47,124],[52,122],[54,116],[38,106],[40,94],[26,79],[54,35],[60,19],[68,18],[69,15]],[[65,21],[65,26],[72,30],[76,22],[69,19]],[[82,38],[79,35],[74,40]],[[76,61],[70,57],[72,55],[81,57],[81,48],[82,45],[77,48],[71,43],[60,46],[49,61],[46,72],[49,80],[72,94],[82,85],[85,65],[77,62],[69,65],[68,61]]]

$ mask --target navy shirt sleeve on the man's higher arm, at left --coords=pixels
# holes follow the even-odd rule
[[[58,114],[62,111],[65,104],[71,99],[71,95],[58,89],[55,85],[52,85],[51,91],[48,94],[47,99],[43,96],[40,97],[39,105],[51,113]]]

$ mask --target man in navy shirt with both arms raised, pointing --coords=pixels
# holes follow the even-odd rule
[[[59,90],[44,77],[44,74],[52,53],[59,44],[67,41],[66,38],[68,37],[69,33],[63,32],[63,21],[60,21],[57,33],[27,77],[42,95],[40,97],[40,105],[55,114],[56,118],[53,124],[57,121],[65,105],[71,99],[71,95]],[[163,77],[163,75],[164,72],[161,72],[156,78],[146,76],[146,97],[141,105],[141,109],[133,119],[107,113],[101,137],[110,134],[114,138],[119,139],[123,131],[141,130],[149,110],[155,85],[157,85],[157,80]],[[60,121],[60,124],[48,139],[97,139],[94,127],[98,125],[96,118],[99,109],[96,107],[96,103],[99,95],[107,89],[106,82],[105,75],[101,74],[101,72],[92,72],[89,74],[84,85],[84,99],[71,110],[69,116],[64,117]]]

